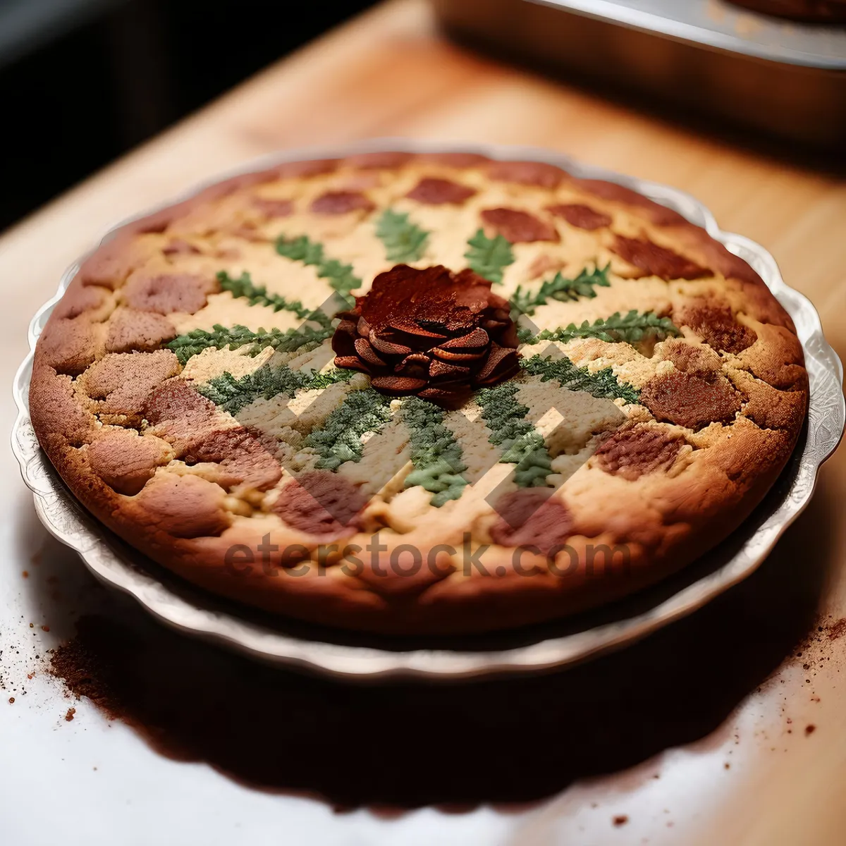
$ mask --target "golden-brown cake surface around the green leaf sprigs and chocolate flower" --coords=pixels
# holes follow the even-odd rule
[[[366,289],[391,266],[374,228],[388,206],[431,231],[417,266],[442,259],[459,272],[476,230],[503,235],[514,257],[500,288],[506,297],[518,285],[536,290],[547,274],[610,262],[610,287],[539,306],[539,327],[629,309],[678,327],[678,337],[638,349],[596,338],[555,344],[575,366],[613,371],[636,402],[520,377],[519,402],[552,457],[547,487],[506,480],[489,421],[472,409],[442,420],[464,447],[458,498],[432,505],[420,486],[404,487],[411,462],[408,437],[396,434],[402,415],[384,423],[395,437],[387,453],[373,437],[340,470],[318,466],[309,432],[357,383],[284,402],[257,391],[243,407],[215,404],[197,387],[223,373],[237,382],[299,353],[212,346],[180,360],[167,349],[224,319],[253,321],[253,332],[299,326],[301,316],[276,310],[278,300],[222,290],[219,272],[250,270],[266,295],[295,294],[306,310],[332,294],[315,263],[274,254],[280,233],[309,234]],[[290,276],[273,288],[277,266]],[[305,359],[325,367],[325,349],[328,341]],[[544,392],[553,392],[546,408]],[[421,633],[553,618],[688,563],[761,501],[794,448],[807,401],[789,316],[703,229],[616,184],[466,153],[294,162],[129,225],[83,263],[53,310],[30,386],[36,434],[75,495],[173,572],[277,613]],[[569,402],[573,420],[588,415],[583,434],[542,429],[544,413]],[[376,485],[386,455],[406,464]],[[484,487],[494,477],[505,492],[496,510]]]

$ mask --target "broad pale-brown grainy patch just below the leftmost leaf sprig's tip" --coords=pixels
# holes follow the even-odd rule
[[[134,416],[153,388],[179,371],[179,360],[169,349],[110,353],[85,371],[78,382],[91,399],[99,400],[97,411]]]

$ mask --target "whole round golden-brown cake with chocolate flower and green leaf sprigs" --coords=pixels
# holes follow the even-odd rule
[[[595,607],[728,536],[794,449],[757,273],[543,162],[286,163],[129,224],[38,342],[74,495],[208,591],[449,634]]]

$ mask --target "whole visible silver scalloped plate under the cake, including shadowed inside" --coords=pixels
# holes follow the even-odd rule
[[[28,401],[32,351],[54,305],[78,271],[77,262],[64,273],[57,294],[30,323],[30,354],[20,365],[14,382],[19,415],[12,446],[24,480],[34,494],[41,522],[59,541],[79,552],[97,578],[135,596],[150,613],[175,629],[279,665],[349,679],[448,679],[530,673],[583,661],[639,640],[684,617],[745,579],[761,564],[779,536],[809,503],[817,471],[837,447],[846,420],[841,388],[843,368],[823,337],[813,305],[783,282],[772,255],[742,235],[722,232],[711,212],[683,191],[581,165],[536,148],[464,145],[461,148],[492,158],[551,162],[576,176],[624,184],[706,228],[761,274],[794,319],[810,376],[810,413],[804,439],[761,507],[717,550],[661,585],[596,612],[515,632],[426,640],[380,638],[280,620],[222,601],[186,585],[109,532],[80,506],[38,445],[30,423]],[[223,174],[220,179],[281,162],[341,157],[379,149],[432,152],[453,151],[457,146],[388,139],[343,148],[288,151],[252,162],[236,172]],[[213,182],[197,190],[208,184]],[[110,230],[105,239],[116,231],[117,228]]]

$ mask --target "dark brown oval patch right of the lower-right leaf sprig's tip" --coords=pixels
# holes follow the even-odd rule
[[[740,395],[724,376],[667,373],[647,382],[640,392],[640,403],[657,420],[688,429],[701,429],[709,423],[730,423],[740,410]]]

